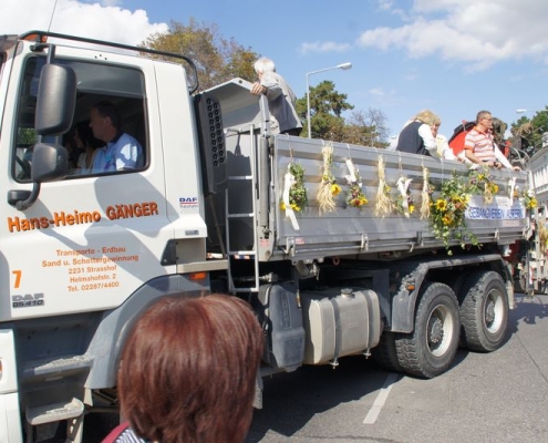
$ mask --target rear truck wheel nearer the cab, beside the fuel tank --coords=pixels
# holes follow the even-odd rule
[[[395,341],[402,369],[427,379],[445,372],[455,358],[459,329],[453,289],[440,282],[426,284],[415,312],[414,331],[399,334]]]

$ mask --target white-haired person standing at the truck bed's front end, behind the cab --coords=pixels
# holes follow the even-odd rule
[[[251,86],[251,94],[266,95],[270,114],[276,119],[272,130],[278,125],[280,134],[299,135],[302,123],[294,109],[296,96],[286,80],[276,72],[276,64],[266,56],[254,64],[259,81]]]

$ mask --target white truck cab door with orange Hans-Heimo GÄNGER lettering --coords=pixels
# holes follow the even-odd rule
[[[128,171],[83,172],[74,156],[69,175],[42,184],[30,208],[18,210],[3,199],[0,285],[9,297],[1,298],[0,321],[114,308],[149,279],[174,272],[174,266],[162,265],[174,234],[167,218],[159,113],[147,110],[154,103],[147,100],[147,91],[155,90],[153,63],[93,51],[85,60],[76,49],[65,52],[55,63],[76,73],[74,127],[89,125],[92,106],[108,101],[121,115],[122,132],[141,144],[142,157]],[[14,111],[4,114],[0,140],[4,196],[9,189],[33,186],[34,109],[44,63],[43,54],[13,61],[11,84],[18,87],[10,87],[6,100]],[[8,128],[13,128],[11,137]],[[74,141],[71,131],[55,142],[75,150]]]

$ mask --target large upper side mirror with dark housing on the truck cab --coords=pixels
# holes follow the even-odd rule
[[[37,99],[39,135],[61,135],[72,126],[76,106],[76,74],[71,68],[48,63],[42,68]]]

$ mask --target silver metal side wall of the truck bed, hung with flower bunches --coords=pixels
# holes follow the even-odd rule
[[[441,239],[435,238],[430,220],[421,219],[420,207],[423,190],[423,171],[427,168],[430,183],[434,188],[432,200],[440,196],[444,179],[455,173],[467,177],[466,165],[456,161],[441,161],[427,156],[376,150],[355,145],[333,143],[331,171],[342,192],[335,197],[332,212],[320,213],[317,200],[321,182],[323,141],[278,136],[273,150],[275,162],[275,199],[280,199],[283,177],[290,162],[301,164],[306,171],[306,187],[309,205],[298,213],[297,225],[286,216],[280,205],[276,210],[276,244],[273,255],[292,257],[311,257],[319,251],[323,255],[349,255],[368,253],[413,251],[418,249],[443,248]],[[400,177],[411,179],[409,189],[415,204],[415,210],[409,218],[393,210],[385,216],[375,216],[375,198],[379,188],[379,161],[385,164],[385,182],[391,187],[391,199],[399,195],[396,183]],[[349,206],[345,202],[349,175],[347,159],[359,168],[363,192],[369,203],[360,208]],[[518,189],[526,186],[526,173],[492,171],[492,177],[499,190],[490,204],[480,195],[469,202],[466,224],[468,230],[479,244],[497,243],[507,245],[523,237],[526,210],[519,199],[509,198],[509,179],[516,177]],[[466,241],[471,243],[471,239]],[[458,245],[457,240],[451,241]],[[318,253],[313,253],[317,250]],[[329,251],[327,254],[325,251]]]

